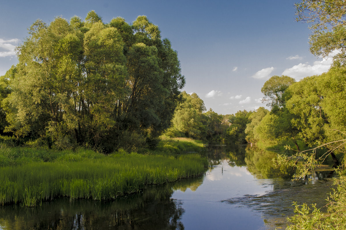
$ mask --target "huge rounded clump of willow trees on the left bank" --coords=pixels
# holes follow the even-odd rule
[[[185,84],[176,51],[145,16],[37,20],[17,51],[6,131],[49,147],[153,145]]]

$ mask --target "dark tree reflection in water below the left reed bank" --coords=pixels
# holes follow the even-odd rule
[[[0,229],[184,229],[182,203],[170,197],[174,189],[197,189],[202,180],[198,177],[152,186],[142,194],[114,201],[70,202],[62,198],[34,208],[3,206]]]

